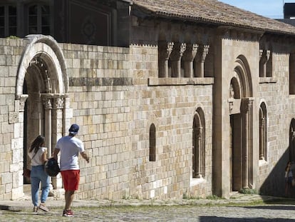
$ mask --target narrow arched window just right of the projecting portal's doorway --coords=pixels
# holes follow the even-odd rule
[[[264,103],[259,108],[259,160],[267,160],[267,114]]]

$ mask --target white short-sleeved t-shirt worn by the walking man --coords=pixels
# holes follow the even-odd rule
[[[85,151],[80,139],[75,136],[63,136],[56,143],[56,148],[61,151],[61,171],[79,169],[78,156]]]

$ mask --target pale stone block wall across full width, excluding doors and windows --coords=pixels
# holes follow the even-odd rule
[[[211,48],[214,53],[210,59],[214,63],[214,69],[210,68],[214,78],[192,79],[158,78],[158,49],[154,45],[118,48],[58,44],[68,75],[69,109],[63,112],[69,113],[59,113],[57,125],[78,123],[78,138],[90,155],[90,163],[80,160],[77,198],[205,197],[214,194],[212,181],[218,179],[222,181],[219,188],[227,189],[222,192],[229,193],[229,83],[241,55],[252,75],[252,94],[247,96],[254,99],[250,124],[254,188],[281,195],[295,99],[289,95],[286,46],[276,44],[273,49],[273,76],[259,78],[258,41],[228,38],[217,42]],[[16,98],[16,79],[19,63],[26,59],[22,57],[26,45],[26,39],[0,39],[0,200],[23,195],[23,146],[28,139],[24,128],[29,123],[21,110],[24,101]],[[34,48],[37,52],[38,46]],[[58,50],[51,50],[51,54],[55,51]],[[59,55],[56,61],[61,58]],[[258,156],[257,115],[262,102],[266,104],[268,118],[266,161],[259,161]],[[192,126],[200,109],[205,117],[205,173],[202,178],[192,178]],[[61,121],[62,116],[66,120]],[[155,161],[149,160],[152,123],[156,130]],[[67,133],[66,126],[63,134]],[[214,151],[218,148],[220,156],[216,158],[218,152]],[[214,169],[215,175],[220,171],[217,178]],[[274,192],[276,189],[279,192]]]

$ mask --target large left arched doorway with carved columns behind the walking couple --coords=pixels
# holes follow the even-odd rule
[[[51,156],[58,138],[66,128],[68,75],[61,48],[51,36],[27,36],[29,44],[22,55],[16,81],[16,101],[24,104],[24,167],[29,165],[26,153],[38,135],[46,138]],[[25,180],[24,183],[29,183]],[[52,180],[53,188],[61,180]]]

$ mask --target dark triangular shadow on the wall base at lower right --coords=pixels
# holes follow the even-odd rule
[[[286,197],[285,195],[285,168],[286,164],[289,161],[289,148],[286,149],[285,153],[281,156],[279,161],[272,169],[272,171],[267,176],[264,183],[259,190],[260,195],[264,196],[279,196]],[[264,166],[259,166],[260,174],[263,174],[264,171],[267,171],[269,164]],[[295,162],[292,162],[291,169],[293,169],[293,175],[295,176]],[[295,186],[291,188],[291,192],[288,197],[295,197]]]

